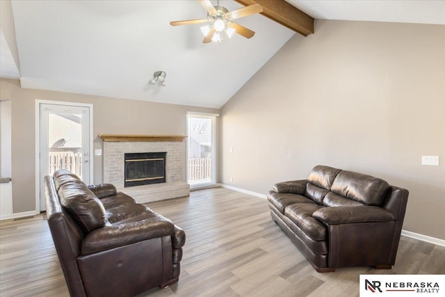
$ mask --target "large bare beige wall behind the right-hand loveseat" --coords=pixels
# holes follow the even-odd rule
[[[223,106],[221,182],[265,194],[317,164],[375,175],[410,191],[404,230],[445,239],[445,26],[323,20],[315,32]]]

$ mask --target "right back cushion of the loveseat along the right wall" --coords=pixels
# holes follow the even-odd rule
[[[380,206],[389,184],[383,179],[352,171],[341,171],[331,186],[331,191],[365,205]]]

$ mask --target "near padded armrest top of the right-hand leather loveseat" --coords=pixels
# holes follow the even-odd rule
[[[328,225],[364,222],[389,222],[394,215],[382,207],[324,207],[314,211],[314,218],[318,218]]]

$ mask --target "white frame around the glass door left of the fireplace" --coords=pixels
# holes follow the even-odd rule
[[[35,214],[40,214],[40,104],[70,105],[90,109],[90,182],[93,184],[92,104],[35,99]]]

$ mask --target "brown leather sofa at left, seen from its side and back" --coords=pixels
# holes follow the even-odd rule
[[[135,296],[179,279],[181,228],[111,184],[44,177],[47,219],[71,296]]]

